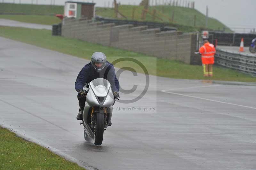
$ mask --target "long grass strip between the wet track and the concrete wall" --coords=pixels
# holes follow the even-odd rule
[[[0,36],[86,59],[90,59],[92,53],[95,51],[102,51],[108,57],[142,57],[146,68],[152,68],[148,69],[149,74],[157,76],[179,79],[256,82],[255,77],[219,66],[214,66],[213,68],[214,77],[204,78],[202,66],[188,65],[179,61],[167,59],[157,59],[152,62],[148,58],[144,58],[147,56],[141,53],[88,43],[73,38],[52,36],[50,30],[0,27]],[[123,65],[117,64],[116,66],[122,67]]]

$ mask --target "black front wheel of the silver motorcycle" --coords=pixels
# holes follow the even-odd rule
[[[101,145],[103,141],[104,123],[105,123],[104,113],[97,112],[95,128],[94,128],[94,138],[93,138],[94,144],[97,146]]]

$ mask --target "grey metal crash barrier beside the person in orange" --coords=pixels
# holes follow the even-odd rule
[[[256,57],[249,54],[233,53],[216,49],[215,63],[256,76]]]

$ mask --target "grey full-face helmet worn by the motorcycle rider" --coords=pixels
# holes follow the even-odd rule
[[[104,53],[102,52],[95,52],[92,54],[92,58],[91,58],[91,63],[92,63],[92,67],[98,72],[100,73],[101,70],[103,70],[103,68],[106,66],[106,62],[107,62],[107,57]],[[97,64],[101,64],[100,66],[97,66]]]

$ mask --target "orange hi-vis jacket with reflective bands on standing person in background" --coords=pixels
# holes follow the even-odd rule
[[[205,43],[200,49],[199,52],[202,55],[203,64],[214,64],[214,55],[216,50],[213,44]]]

